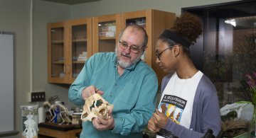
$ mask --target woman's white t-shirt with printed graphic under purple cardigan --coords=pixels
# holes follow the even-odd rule
[[[198,71],[190,79],[180,79],[178,75],[174,73],[166,85],[166,88],[164,88],[158,110],[161,113],[164,112],[166,116],[177,124],[189,128],[191,124],[193,100],[196,88],[202,76],[203,73]],[[160,135],[169,137],[168,133],[169,132],[162,130],[160,133],[157,133],[157,138],[161,137]]]

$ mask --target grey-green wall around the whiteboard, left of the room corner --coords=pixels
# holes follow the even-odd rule
[[[9,0],[0,1],[0,30],[14,32],[16,35],[16,55],[14,58],[16,61],[16,71],[14,73],[16,74],[16,98],[14,99],[16,102],[16,114],[20,114],[18,111],[19,105],[26,101],[23,94],[29,90],[29,6],[28,0],[16,0],[16,4],[14,4],[14,1]],[[16,115],[16,122],[20,120],[20,117]]]

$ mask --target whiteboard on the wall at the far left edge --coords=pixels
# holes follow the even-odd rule
[[[0,34],[0,136],[14,131],[14,34]]]

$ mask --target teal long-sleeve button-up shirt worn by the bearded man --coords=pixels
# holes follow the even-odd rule
[[[68,98],[76,105],[84,105],[82,89],[87,86],[101,88],[105,100],[114,105],[113,130],[99,131],[92,122],[82,122],[80,137],[142,137],[142,130],[155,109],[157,78],[153,69],[139,61],[117,73],[117,56],[114,52],[94,54],[69,88]]]

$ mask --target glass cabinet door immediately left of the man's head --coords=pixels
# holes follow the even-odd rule
[[[93,52],[114,52],[119,35],[120,15],[93,18]]]

